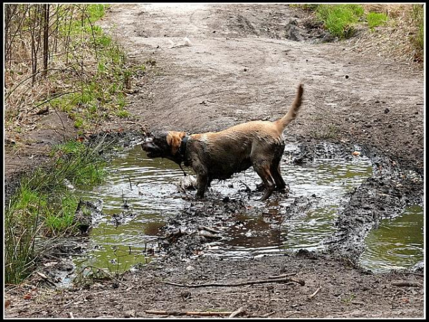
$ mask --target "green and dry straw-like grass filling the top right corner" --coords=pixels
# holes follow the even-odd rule
[[[365,41],[375,53],[383,52],[386,57],[415,61],[419,68],[423,66],[423,4],[296,4],[291,7],[314,12],[324,28],[339,39],[352,37],[358,26],[367,24],[371,32],[360,35],[360,46]],[[374,32],[377,26],[385,28]]]

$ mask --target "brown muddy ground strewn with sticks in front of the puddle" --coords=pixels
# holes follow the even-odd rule
[[[299,278],[304,285],[273,281],[228,286],[276,276]],[[223,286],[181,287],[165,282]],[[242,307],[239,317],[422,318],[423,292],[423,277],[419,275],[367,274],[327,255],[241,261],[170,258],[127,272],[120,281],[95,281],[86,287],[51,292],[23,286],[6,294],[6,301],[10,301],[6,314],[21,318],[157,318],[192,311],[211,312],[216,317],[216,312],[234,312]],[[170,313],[155,315],[153,311]]]

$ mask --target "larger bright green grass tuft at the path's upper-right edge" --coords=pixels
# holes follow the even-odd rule
[[[363,17],[363,7],[356,4],[321,4],[316,16],[332,35],[346,39],[354,34],[354,25]]]

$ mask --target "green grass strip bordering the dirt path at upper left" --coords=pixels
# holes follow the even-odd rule
[[[129,112],[123,111],[128,104],[123,91],[129,88],[134,75],[145,70],[145,65],[129,66],[122,48],[109,35],[105,35],[100,26],[95,25],[104,16],[105,8],[106,5],[100,4],[83,6],[71,23],[72,46],[82,50],[77,53],[78,57],[70,57],[69,60],[83,62],[86,77],[61,79],[61,83],[67,88],[74,88],[75,93],[52,100],[46,98],[46,104],[68,113],[75,127],[81,131],[91,131],[93,124],[111,116],[130,117]],[[86,17],[84,26],[78,19],[82,15]],[[96,59],[95,64],[91,57]],[[59,79],[52,78],[51,82],[58,84]],[[40,102],[35,104],[39,105]]]

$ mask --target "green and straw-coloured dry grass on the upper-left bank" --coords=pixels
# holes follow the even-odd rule
[[[125,111],[129,103],[125,93],[131,89],[133,78],[145,73],[145,65],[130,64],[124,50],[96,25],[108,7],[102,4],[58,7],[58,15],[70,15],[73,9],[73,19],[60,24],[58,30],[60,40],[73,49],[53,55],[50,68],[60,71],[50,71],[46,79],[37,83],[34,91],[37,95],[22,95],[25,84],[18,88],[9,84],[9,107],[5,111],[8,130],[15,131],[25,123],[19,122],[22,111],[38,111],[46,105],[50,111],[67,113],[80,132],[95,131],[95,124],[112,117],[131,117]],[[13,65],[8,70],[10,75],[21,73],[21,65]],[[24,77],[28,75],[15,79],[15,84]],[[24,119],[30,117],[26,115]]]

